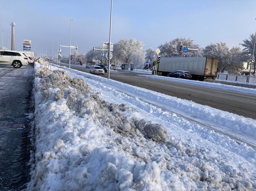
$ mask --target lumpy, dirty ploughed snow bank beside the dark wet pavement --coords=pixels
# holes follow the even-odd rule
[[[173,115],[168,129],[174,136],[164,125],[136,118],[134,108],[101,99],[84,80],[35,65],[29,190],[256,189],[255,151],[248,148],[249,159],[203,138],[186,141],[192,129],[183,129],[191,126],[183,119]]]

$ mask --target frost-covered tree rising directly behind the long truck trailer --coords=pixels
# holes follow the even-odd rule
[[[198,49],[198,56],[202,55],[202,48],[198,44],[194,44],[193,39],[186,38],[175,38],[170,42],[165,42],[164,45],[158,46],[160,49],[160,56],[171,57],[171,56],[185,56],[185,57],[196,57],[196,51],[180,51],[180,45],[188,46],[188,48]]]

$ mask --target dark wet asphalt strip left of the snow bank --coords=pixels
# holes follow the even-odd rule
[[[29,181],[33,68],[0,65],[1,191],[25,189]]]

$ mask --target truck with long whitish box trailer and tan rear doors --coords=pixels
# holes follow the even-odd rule
[[[167,76],[168,73],[185,70],[191,73],[193,80],[203,81],[204,78],[216,78],[218,65],[219,59],[211,57],[161,57],[156,64],[156,73]]]

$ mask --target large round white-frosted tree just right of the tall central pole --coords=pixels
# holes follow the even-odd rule
[[[145,55],[143,51],[143,43],[140,41],[135,40],[134,38],[126,39],[126,38],[121,38],[118,40],[116,47],[115,47],[115,52],[114,54],[116,55],[117,59],[125,64],[131,64],[130,62],[136,58],[135,55],[138,55],[137,57],[141,57]],[[136,60],[136,59],[135,59]],[[139,59],[138,59],[139,60]],[[137,63],[137,62],[136,62]],[[133,64],[136,64],[133,63]]]

